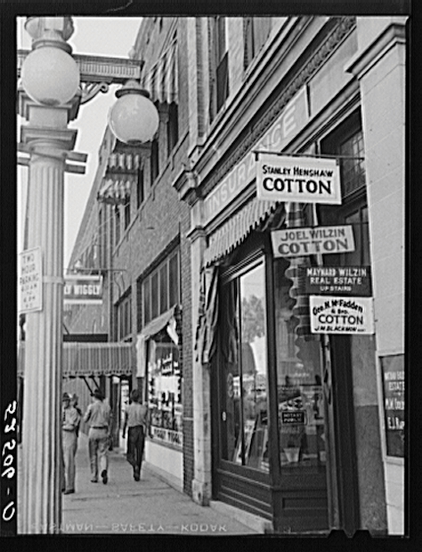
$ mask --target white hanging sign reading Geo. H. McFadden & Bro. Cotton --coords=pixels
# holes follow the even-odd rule
[[[310,295],[311,333],[371,335],[374,309],[371,297]]]

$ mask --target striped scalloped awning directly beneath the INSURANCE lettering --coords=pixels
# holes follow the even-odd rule
[[[205,266],[209,266],[240,245],[252,230],[274,213],[278,205],[277,201],[253,198],[209,237],[208,248],[204,251]]]

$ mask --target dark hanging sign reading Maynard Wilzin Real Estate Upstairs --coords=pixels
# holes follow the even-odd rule
[[[371,267],[305,267],[302,275],[307,295],[372,295]]]

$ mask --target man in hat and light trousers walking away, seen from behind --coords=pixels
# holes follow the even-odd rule
[[[91,465],[91,482],[98,482],[98,464],[102,482],[107,483],[109,465],[108,450],[111,435],[111,408],[103,402],[104,396],[99,389],[93,392],[94,402],[88,406],[84,422],[89,422],[88,433],[89,461]]]

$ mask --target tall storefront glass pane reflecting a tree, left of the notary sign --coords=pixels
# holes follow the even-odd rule
[[[264,263],[224,285],[223,459],[268,471]]]

